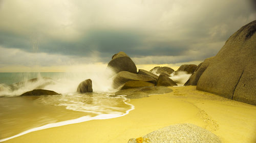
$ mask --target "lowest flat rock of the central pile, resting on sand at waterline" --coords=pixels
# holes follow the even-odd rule
[[[151,94],[164,94],[172,92],[172,89],[167,87],[142,87],[134,89],[120,90],[115,93],[117,95],[127,95],[126,98],[142,98],[148,97]]]

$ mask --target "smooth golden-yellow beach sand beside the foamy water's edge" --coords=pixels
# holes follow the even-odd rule
[[[127,142],[159,128],[191,123],[222,142],[256,142],[256,106],[197,91],[170,87],[172,93],[132,99],[128,115],[31,132],[5,142]]]

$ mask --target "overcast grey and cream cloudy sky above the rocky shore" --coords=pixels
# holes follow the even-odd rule
[[[0,0],[0,71],[107,64],[119,51],[138,65],[203,61],[256,19],[252,2]]]

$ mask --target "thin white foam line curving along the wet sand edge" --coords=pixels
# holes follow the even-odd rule
[[[115,97],[118,98],[118,97]],[[127,105],[131,106],[131,109],[126,110],[124,114],[120,114],[120,113],[105,113],[105,114],[101,114],[95,117],[91,117],[91,116],[83,116],[77,119],[72,119],[72,120],[68,120],[68,121],[62,121],[62,122],[57,122],[57,123],[51,123],[51,124],[47,124],[44,126],[40,126],[40,127],[36,127],[36,128],[32,128],[29,130],[26,130],[24,132],[21,132],[19,134],[16,134],[14,136],[8,137],[8,138],[4,138],[4,139],[0,139],[0,142],[18,137],[18,136],[22,136],[24,134],[30,133],[30,132],[34,132],[34,131],[38,131],[38,130],[43,130],[43,129],[48,129],[48,128],[53,128],[53,127],[59,127],[59,126],[64,126],[64,125],[70,125],[70,124],[75,124],[75,123],[81,123],[81,122],[86,122],[86,121],[91,121],[91,120],[104,120],[104,119],[111,119],[111,118],[118,118],[118,117],[122,117],[127,115],[131,110],[135,109],[134,105],[129,104],[125,101],[129,101],[124,97],[119,97],[119,98],[123,98],[123,102]]]

